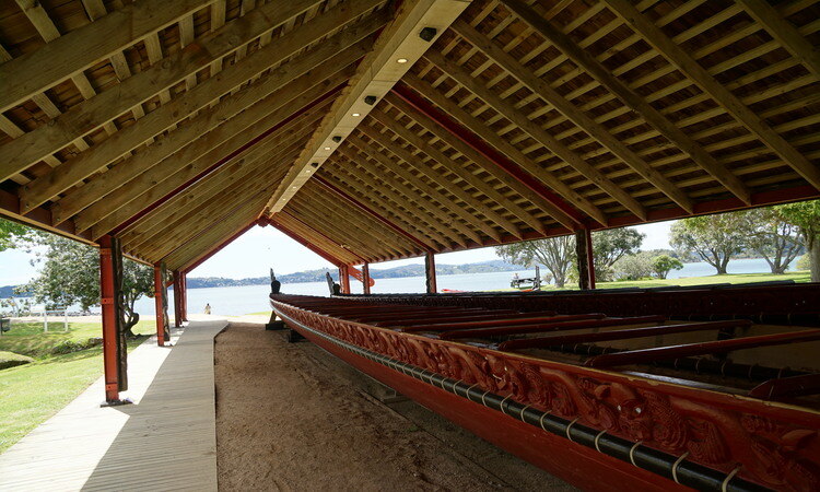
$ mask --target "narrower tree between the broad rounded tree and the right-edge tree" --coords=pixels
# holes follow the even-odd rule
[[[773,207],[746,213],[751,227],[748,246],[769,263],[774,274],[783,274],[803,250],[799,227],[786,221]]]

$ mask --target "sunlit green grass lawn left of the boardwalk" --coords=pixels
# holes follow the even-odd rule
[[[155,329],[153,320],[140,321],[133,331],[143,336],[129,341],[129,351]],[[94,323],[70,323],[68,333],[44,333],[42,324],[12,325],[11,331],[3,333],[0,350],[33,356],[35,362],[0,371],[0,453],[103,375],[101,347],[65,355],[50,355],[50,349],[65,340],[85,341],[99,336],[102,326]]]

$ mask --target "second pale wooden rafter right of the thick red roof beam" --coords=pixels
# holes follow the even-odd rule
[[[471,25],[464,21],[457,21],[453,24],[453,30],[477,49],[487,55],[493,62],[520,81],[530,91],[536,93],[543,101],[552,105],[559,113],[564,115],[570,121],[583,129],[589,137],[597,140],[601,145],[607,148],[613,155],[630,166],[635,173],[643,176],[649,184],[655,186],[659,191],[666,195],[670,200],[678,203],[684,210],[692,211],[692,200],[671,181],[669,181],[657,169],[652,167],[632,150],[630,150],[621,140],[609,132],[607,128],[595,121],[586,113],[577,108],[572,102],[567,101],[558,93],[543,79],[536,77],[527,67],[522,65],[512,55],[504,51],[494,40],[488,38],[484,34],[479,33]]]

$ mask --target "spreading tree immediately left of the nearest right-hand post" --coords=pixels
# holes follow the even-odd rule
[[[569,235],[496,246],[495,254],[505,261],[527,268],[543,265],[552,273],[555,286],[563,289],[575,255],[575,237]]]

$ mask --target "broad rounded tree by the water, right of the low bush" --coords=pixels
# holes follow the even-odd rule
[[[687,254],[694,251],[723,276],[731,257],[746,246],[748,231],[743,213],[693,216],[672,224],[669,243]]]

